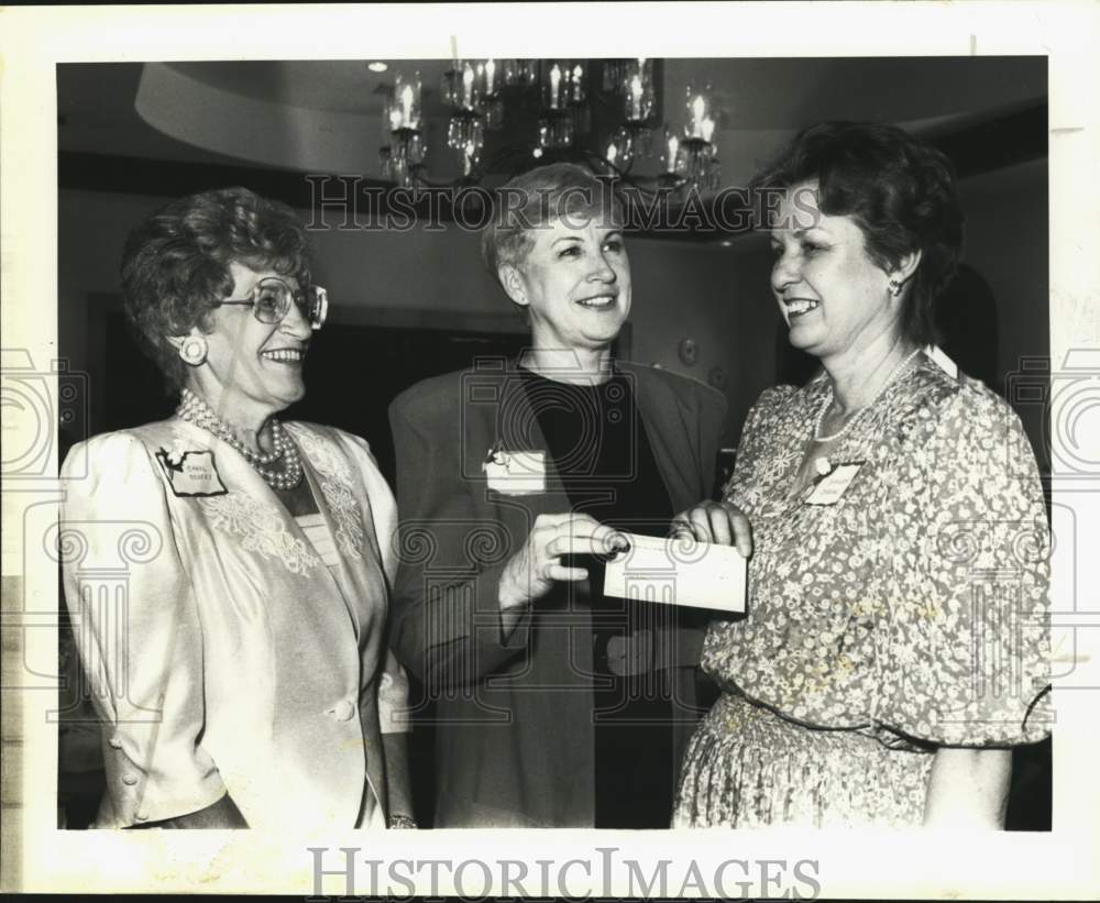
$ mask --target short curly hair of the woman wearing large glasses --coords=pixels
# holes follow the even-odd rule
[[[135,228],[122,252],[122,299],[142,350],[169,392],[186,364],[169,335],[211,329],[213,302],[233,290],[231,262],[310,282],[312,251],[295,212],[248,188],[222,188],[173,201]]]

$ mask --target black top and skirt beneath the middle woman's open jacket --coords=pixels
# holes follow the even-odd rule
[[[615,373],[603,385],[586,386],[519,372],[573,511],[617,529],[666,536],[675,513],[629,379]],[[596,827],[668,827],[676,768],[668,687],[652,673],[616,673],[607,651],[617,637],[639,625],[668,623],[674,612],[605,597],[603,564],[592,557],[563,563],[586,568],[590,576]]]

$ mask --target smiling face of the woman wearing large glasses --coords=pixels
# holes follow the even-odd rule
[[[283,279],[292,289],[298,283],[271,269],[255,271],[229,264],[234,299],[252,296],[267,276]],[[306,394],[301,368],[312,330],[297,305],[292,304],[279,323],[262,323],[251,307],[222,306],[211,317],[213,330],[204,334],[206,363],[196,370],[197,389],[222,419],[252,426],[254,419],[283,410]]]

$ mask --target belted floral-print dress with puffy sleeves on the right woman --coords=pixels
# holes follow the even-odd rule
[[[723,694],[692,738],[675,826],[920,825],[938,746],[1042,739],[1048,530],[1008,405],[919,355],[843,438],[833,505],[792,494],[825,377],[768,389],[726,497],[752,524],[749,604],[715,621]]]

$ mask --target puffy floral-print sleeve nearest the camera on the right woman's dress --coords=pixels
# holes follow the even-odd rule
[[[960,387],[917,418],[875,517],[876,722],[947,746],[1049,733],[1049,530],[1019,418]]]

